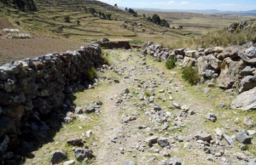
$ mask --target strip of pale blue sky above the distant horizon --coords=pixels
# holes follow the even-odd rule
[[[100,0],[128,8],[154,9],[218,9],[224,11],[241,11],[256,9],[256,0]]]

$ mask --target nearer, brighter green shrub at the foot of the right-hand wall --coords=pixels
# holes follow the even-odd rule
[[[194,69],[193,67],[184,68],[182,72],[182,77],[186,82],[190,83],[191,85],[195,85],[196,83],[200,82],[198,70],[196,68]]]

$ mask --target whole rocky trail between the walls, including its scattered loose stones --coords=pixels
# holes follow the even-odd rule
[[[49,152],[65,165],[256,163],[255,123],[249,112],[230,110],[235,93],[190,86],[178,68],[133,50],[105,53],[111,66],[98,71],[94,88],[76,94],[76,110],[54,142],[25,164],[49,164]]]

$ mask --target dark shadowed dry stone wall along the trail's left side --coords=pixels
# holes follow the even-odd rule
[[[87,75],[103,64],[101,53],[95,43],[0,66],[0,164],[22,145],[22,134],[47,129],[41,118],[72,105],[73,92],[90,86]]]

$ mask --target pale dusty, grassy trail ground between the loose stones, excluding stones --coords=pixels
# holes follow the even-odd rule
[[[123,50],[107,50],[110,55],[108,55],[113,68],[115,70],[121,70],[123,68],[122,76],[114,73],[113,71],[105,70],[103,73],[99,73],[100,85],[96,86],[95,89],[85,90],[83,93],[76,94],[77,100],[75,100],[76,105],[81,105],[83,107],[90,104],[91,101],[102,100],[103,105],[101,108],[100,115],[84,115],[88,119],[77,120],[73,124],[64,125],[59,133],[55,136],[55,141],[50,144],[45,144],[44,147],[38,151],[34,151],[33,154],[35,158],[27,159],[26,164],[49,164],[49,152],[55,150],[62,150],[67,152],[69,160],[74,159],[72,146],[66,145],[66,141],[73,137],[83,137],[87,142],[85,145],[89,146],[90,149],[94,151],[96,156],[95,160],[92,160],[90,164],[106,164],[106,165],[119,165],[125,160],[132,160],[137,162],[137,164],[148,164],[155,165],[160,164],[160,162],[166,159],[162,156],[164,151],[170,151],[171,157],[177,156],[183,165],[199,165],[199,164],[224,164],[222,160],[218,157],[214,157],[214,162],[209,162],[206,160],[206,154],[200,146],[195,141],[195,134],[199,130],[209,132],[214,136],[215,128],[224,128],[226,133],[230,136],[236,134],[232,132],[234,128],[241,130],[245,128],[242,124],[244,117],[250,115],[250,113],[245,113],[241,111],[232,111],[229,108],[221,109],[218,107],[219,103],[230,104],[230,101],[235,97],[233,94],[225,94],[219,88],[211,88],[208,94],[203,94],[202,89],[205,88],[204,85],[201,88],[195,88],[195,86],[190,86],[187,83],[183,83],[180,77],[180,71],[174,69],[177,75],[173,71],[166,70],[164,63],[155,62],[152,57],[147,57],[147,65],[140,65],[143,60],[139,58],[136,52],[126,52]],[[129,55],[131,57],[129,57]],[[148,67],[148,69],[147,69]],[[130,76],[125,79],[125,76]],[[108,77],[109,80],[102,80],[102,77]],[[174,78],[172,83],[169,83],[170,78]],[[113,78],[119,79],[120,83],[113,83]],[[136,91],[139,94],[146,92],[147,88],[138,88],[137,81],[134,78],[140,80],[148,80],[154,78],[157,82],[158,88],[155,90],[154,100],[159,103],[165,111],[170,111],[174,118],[171,118],[170,127],[174,125],[181,125],[181,131],[168,132],[165,131],[153,131],[149,129],[138,129],[140,125],[145,125],[147,127],[161,126],[160,123],[155,123],[152,117],[146,115],[147,111],[140,110],[140,106],[145,103],[144,107],[148,111],[151,111],[150,106],[148,106],[147,101],[138,100]],[[175,102],[180,105],[188,105],[189,108],[195,111],[195,115],[187,117],[177,117],[180,110],[174,109],[169,110],[168,106],[172,105],[172,101],[168,100],[169,94],[159,93],[160,89],[165,89],[170,87],[172,91],[172,97]],[[132,97],[123,97],[120,94],[125,88],[130,89]],[[163,102],[160,98],[166,98],[166,102]],[[124,102],[121,105],[116,105],[116,99],[122,98]],[[113,100],[112,100],[113,99]],[[122,122],[127,116],[132,116],[134,112],[138,112],[137,120],[125,124]],[[204,116],[207,112],[214,112],[218,117],[217,122],[209,122]],[[82,129],[79,129],[82,126]],[[119,131],[118,128],[123,128]],[[93,137],[85,138],[83,134],[87,130],[93,130]],[[149,133],[157,135],[160,137],[166,137],[172,141],[171,149],[160,148],[159,145],[154,145],[154,148],[149,148],[144,140],[149,136]],[[111,142],[111,137],[117,136],[116,143]],[[184,142],[177,142],[174,140],[175,137],[183,137]],[[183,145],[185,142],[190,141],[191,148],[184,149]],[[96,147],[91,144],[96,143]],[[249,145],[249,150],[251,153],[255,151],[255,138],[253,139],[253,145]],[[57,143],[57,144],[56,144]],[[226,142],[223,140],[225,145]],[[56,145],[54,145],[56,144]],[[138,151],[135,146],[137,144],[144,145],[144,151]],[[235,147],[225,147],[224,156],[232,165],[243,165],[246,164],[245,161],[240,161],[234,154],[240,151],[240,146],[236,142]],[[119,151],[119,148],[124,148],[124,153]],[[154,153],[153,149],[159,149],[160,153]],[[223,150],[223,149],[219,149]],[[252,155],[250,152],[244,152],[247,155]],[[255,152],[254,152],[255,153]],[[133,157],[136,156],[136,157]],[[148,159],[155,157],[154,161],[148,162]],[[171,157],[167,157],[170,159]],[[61,164],[61,163],[60,163]],[[77,162],[76,164],[80,164]]]

